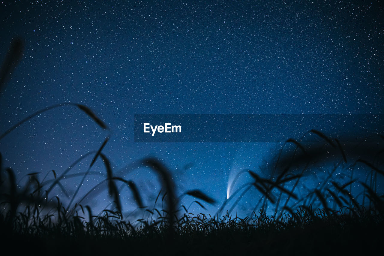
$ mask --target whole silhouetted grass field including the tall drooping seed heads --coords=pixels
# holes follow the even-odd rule
[[[13,51],[18,52],[17,49]],[[16,57],[9,57],[10,63],[17,62],[12,61],[18,58],[16,53]],[[12,69],[10,65],[3,65],[2,74],[8,75]],[[7,79],[0,78],[1,89]],[[31,118],[57,107],[76,107],[100,128],[109,130],[87,106],[60,103],[27,116],[2,133],[0,140]],[[319,143],[305,145],[305,136],[316,136]],[[29,173],[24,185],[20,185],[12,168],[2,165],[0,155],[2,248],[18,254],[39,255],[318,255],[358,251],[367,254],[380,250],[384,209],[384,196],[380,194],[384,176],[382,135],[377,135],[374,146],[342,145],[336,138],[317,130],[308,131],[300,140],[289,138],[263,166],[262,173],[246,169],[236,176],[234,183],[240,175],[248,175],[250,182],[239,185],[212,216],[190,213],[182,204],[182,198],[192,196],[203,208],[203,204],[214,204],[215,199],[200,190],[177,191],[172,172],[155,158],[142,159],[137,164],[152,170],[162,185],[154,206],[143,206],[135,181],[114,176],[109,159],[103,154],[109,138],[107,136],[98,150],[81,156],[63,173],[52,170],[42,180],[39,173]],[[93,156],[88,169],[83,173],[71,173],[73,166],[86,156]],[[88,193],[79,195],[80,186],[97,160],[104,163],[104,180]],[[308,172],[316,171],[319,161],[331,161],[333,168],[325,172],[317,186],[302,189],[305,187],[303,178]],[[363,175],[356,175],[357,166],[364,170]],[[340,170],[346,177],[343,183],[336,178]],[[72,198],[70,202],[64,203],[53,190],[58,187],[66,191],[63,181],[71,175],[80,177],[80,186],[68,196]],[[137,208],[146,213],[147,218],[131,219],[122,213],[121,185],[132,192]],[[355,185],[360,189],[353,189]],[[108,190],[111,206],[94,213],[83,204],[83,199],[101,186]],[[250,190],[258,193],[252,214],[237,217],[234,210]]]

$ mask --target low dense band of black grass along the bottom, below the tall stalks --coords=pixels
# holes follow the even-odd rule
[[[64,216],[64,213],[62,213]],[[45,216],[20,214],[9,226],[1,220],[3,248],[39,255],[156,254],[156,255],[320,255],[364,254],[380,251],[383,215],[359,210],[353,214],[298,209],[276,221],[265,214],[252,219],[220,219],[184,214],[174,222],[142,223],[134,228],[119,213],[93,217],[62,217],[55,223]]]

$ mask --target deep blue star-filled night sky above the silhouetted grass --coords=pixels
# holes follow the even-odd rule
[[[0,94],[0,130],[46,106],[80,103],[111,128],[103,153],[146,203],[160,190],[156,176],[125,174],[145,156],[170,168],[179,193],[201,189],[222,202],[228,177],[258,170],[276,145],[135,143],[134,114],[382,114],[383,14],[377,0],[2,1],[0,60],[13,38],[24,52]],[[61,107],[18,127],[0,152],[22,184],[26,173],[60,175],[106,136],[83,112]],[[101,160],[93,171],[105,172]],[[79,180],[65,181],[68,193]],[[88,176],[79,194],[101,180]],[[104,194],[88,204],[103,209]],[[121,196],[134,207],[127,188]]]

